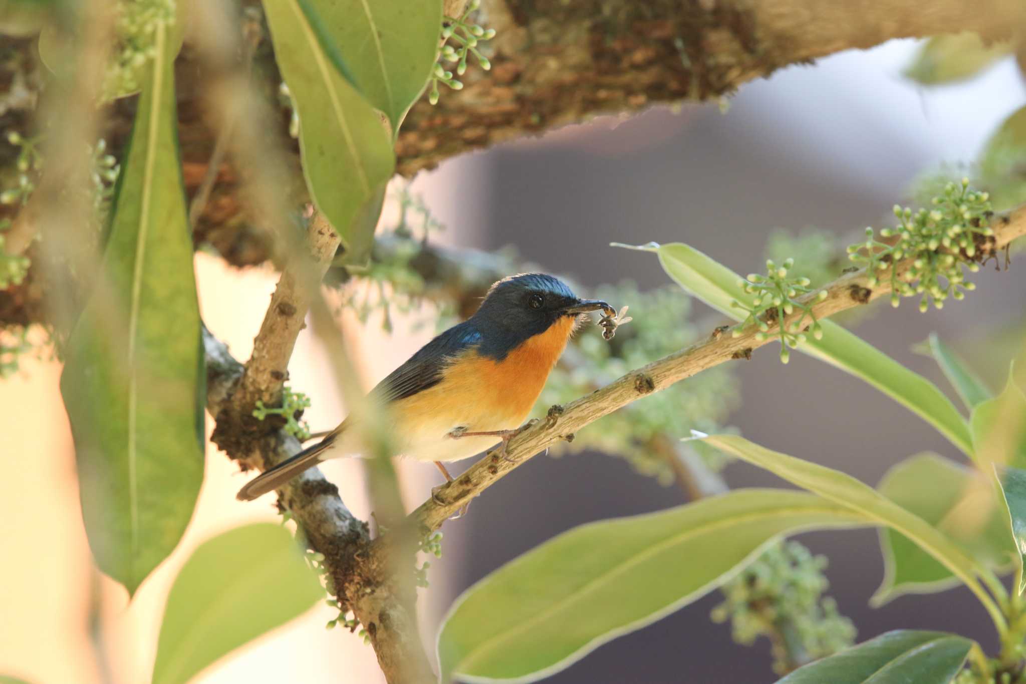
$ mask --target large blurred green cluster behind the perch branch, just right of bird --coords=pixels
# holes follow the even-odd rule
[[[712,329],[712,323],[702,326],[688,321],[690,300],[680,296],[676,286],[641,292],[635,284],[624,282],[595,288],[590,294],[629,305],[634,320],[609,341],[591,326],[577,333],[576,344],[566,349],[549,375],[537,404],[540,418],[544,419],[549,406],[589,394],[631,369],[687,347]],[[552,447],[552,453],[601,451],[626,458],[638,473],[669,485],[674,481],[669,459],[679,455],[654,446],[690,429],[719,432],[738,403],[737,378],[726,365],[720,365],[610,413],[600,426],[576,435],[573,442]],[[677,446],[675,441],[672,444]],[[725,464],[722,454],[701,442],[688,442],[685,448],[696,451],[713,470]]]

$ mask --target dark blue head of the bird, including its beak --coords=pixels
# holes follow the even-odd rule
[[[492,285],[471,320],[482,335],[481,353],[503,359],[542,333],[562,336],[565,343],[578,315],[600,310],[616,314],[604,301],[579,298],[558,278],[522,273]]]

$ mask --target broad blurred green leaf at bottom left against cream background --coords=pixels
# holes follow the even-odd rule
[[[153,684],[179,684],[324,597],[280,525],[236,527],[204,541],[171,586]]]

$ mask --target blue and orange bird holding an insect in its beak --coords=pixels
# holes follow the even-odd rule
[[[396,454],[434,461],[460,460],[506,442],[523,424],[566,347],[578,317],[616,310],[580,299],[557,278],[541,273],[510,276],[491,286],[470,319],[429,341],[370,391],[388,405]],[[615,327],[615,324],[614,324]],[[607,337],[611,336],[606,326]],[[360,449],[351,418],[288,460],[261,474],[238,498],[277,489],[321,460]]]

